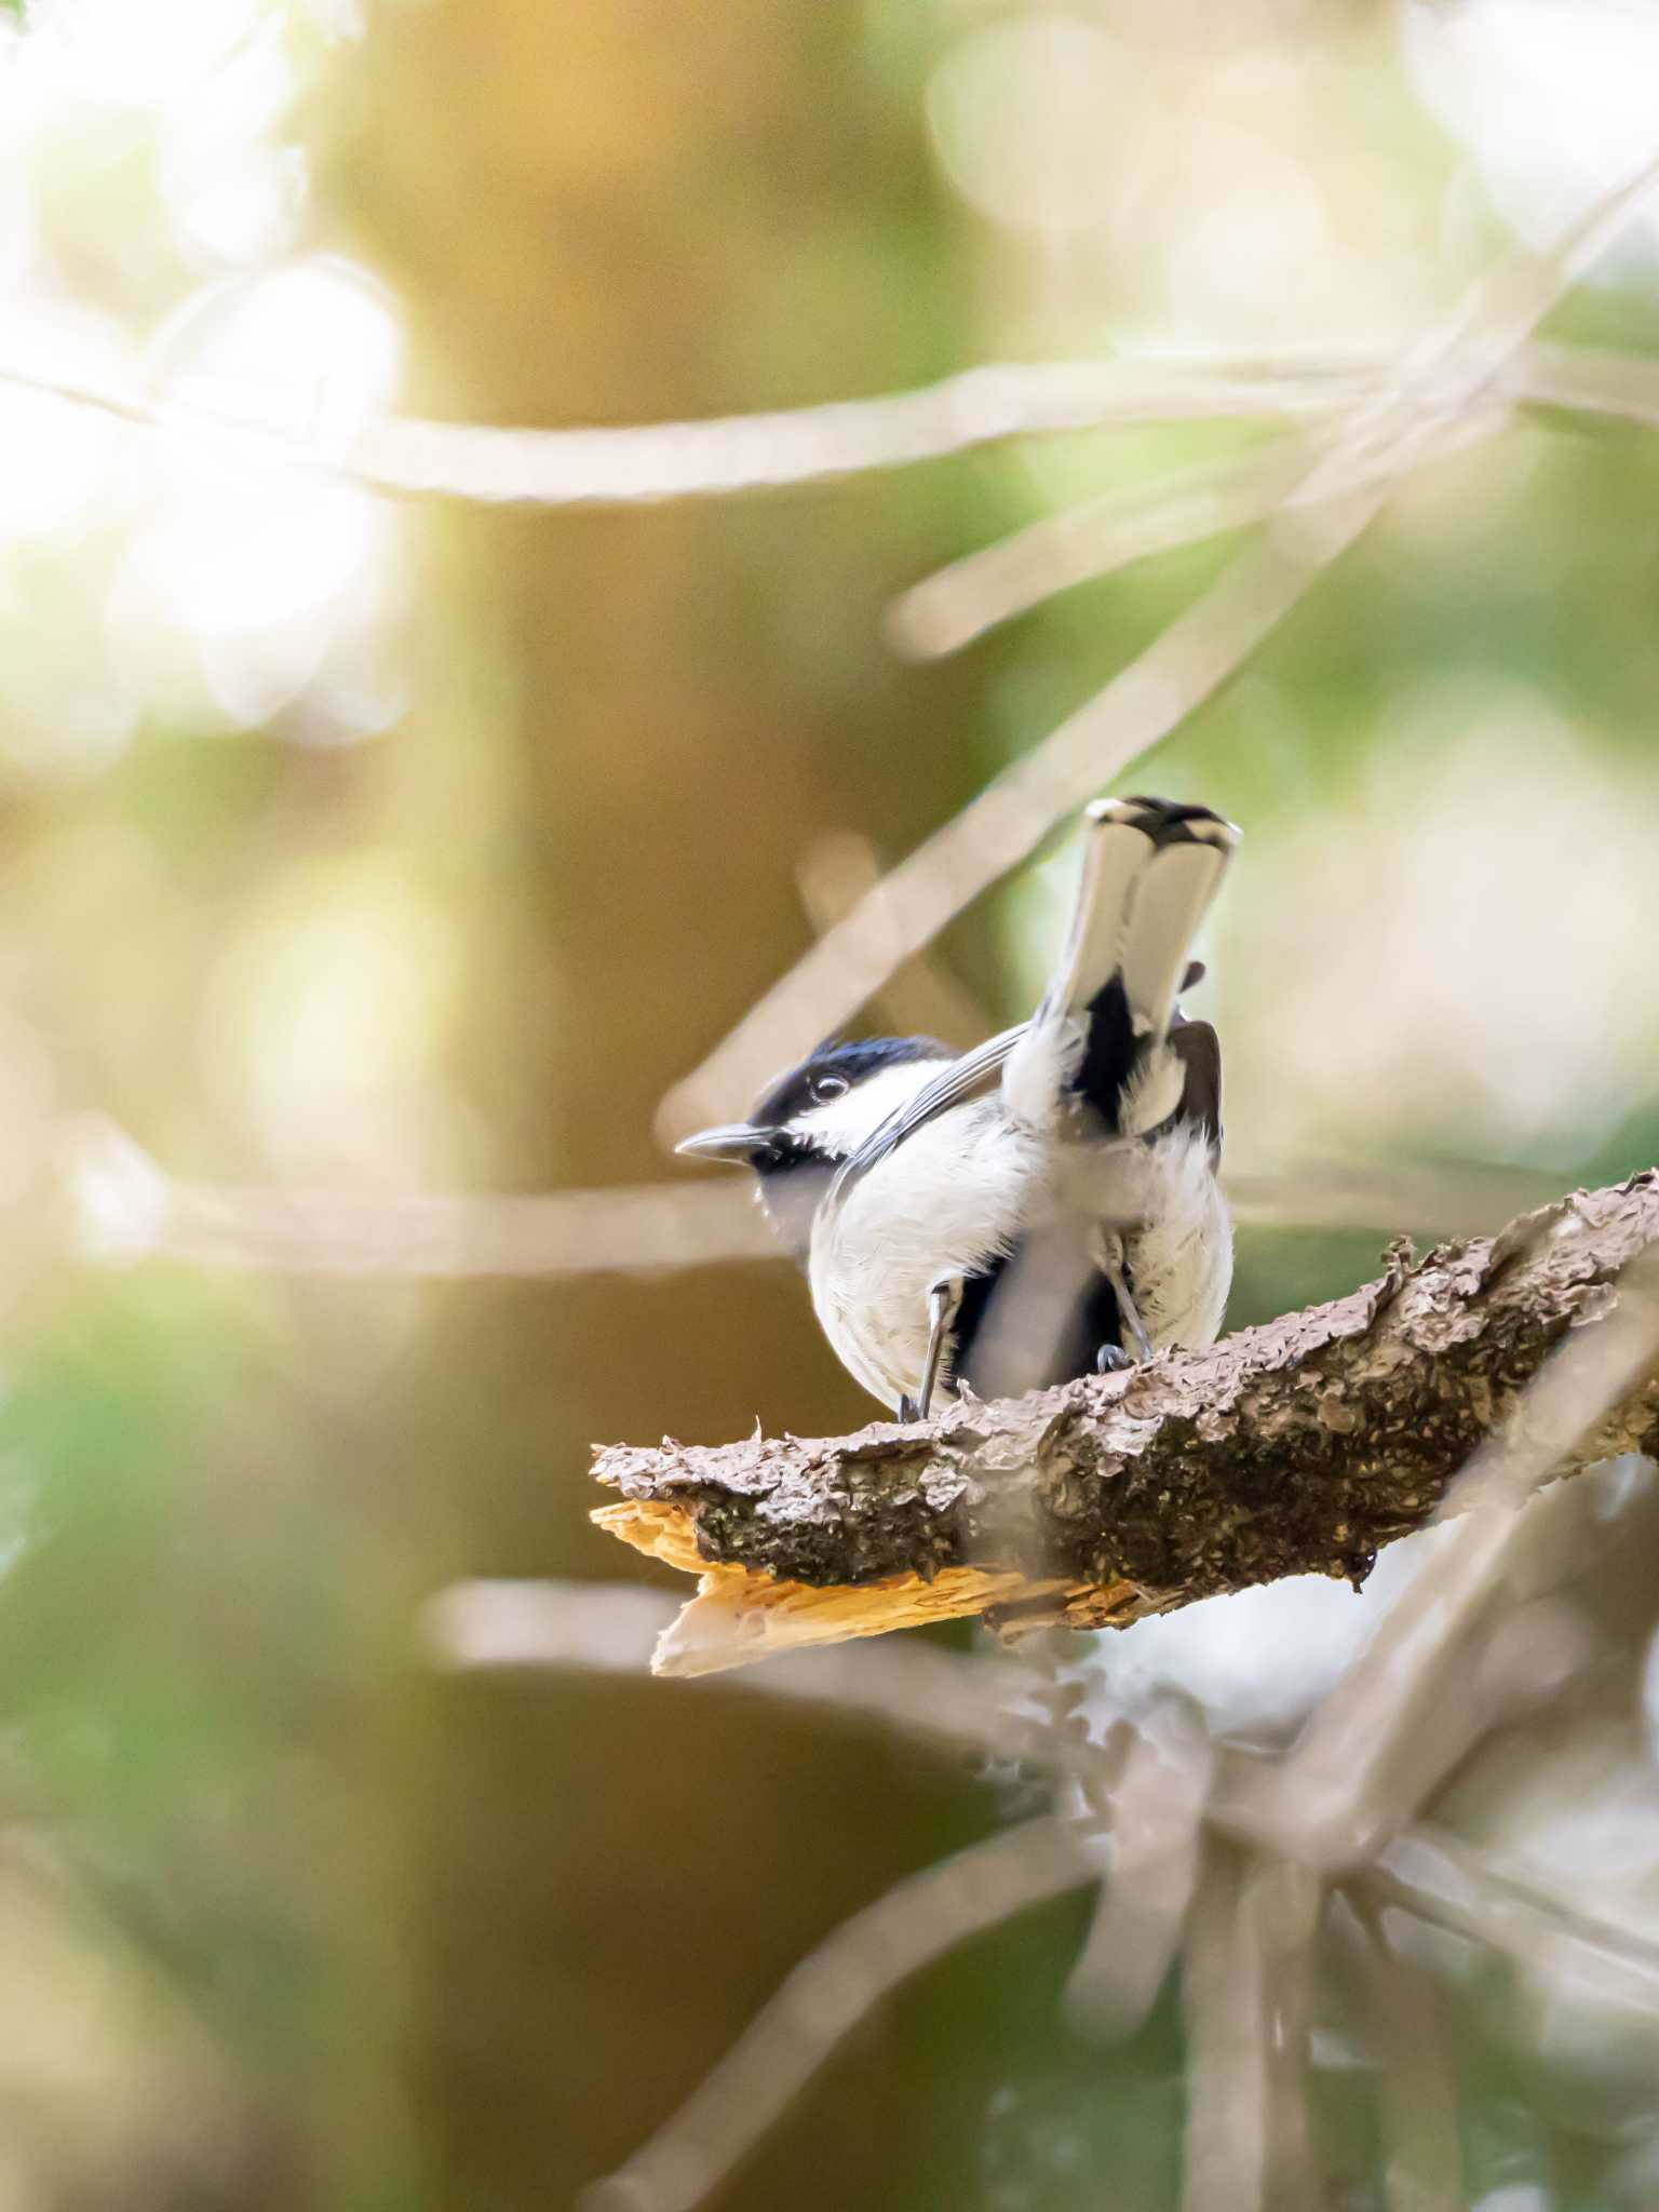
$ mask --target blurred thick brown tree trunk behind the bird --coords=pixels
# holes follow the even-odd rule
[[[380,11],[334,190],[407,301],[414,403],[622,422],[949,367],[918,102],[865,73],[860,24],[790,0]],[[951,551],[927,513],[876,484],[431,533],[380,816],[462,925],[480,1179],[670,1172],[655,1104],[799,951],[803,845],[902,849],[971,785],[960,679],[878,644],[887,591]],[[783,1267],[465,1287],[422,1365],[411,1513],[456,1531],[449,1571],[615,1575],[593,1438],[860,1418]],[[971,1818],[852,1728],[659,1690],[434,1699],[420,2066],[458,2201],[491,2212],[566,2203],[805,1944]],[[902,2177],[918,2108],[863,2101],[743,2201],[774,2203],[792,2157],[799,2201],[885,2201],[867,2177]]]

